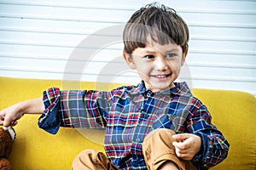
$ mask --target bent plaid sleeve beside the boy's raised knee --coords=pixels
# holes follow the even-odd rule
[[[189,115],[188,128],[192,135],[190,140],[200,137],[200,148],[194,145],[195,153],[192,161],[200,163],[204,167],[213,167],[223,161],[228,156],[230,144],[217,127],[212,125],[212,116],[205,105],[201,105],[198,110]],[[193,144],[193,142],[191,142]],[[194,151],[195,151],[194,150]]]

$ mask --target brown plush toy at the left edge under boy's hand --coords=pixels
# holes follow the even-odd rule
[[[13,149],[15,136],[13,127],[0,127],[0,170],[12,169],[11,162],[7,158]]]

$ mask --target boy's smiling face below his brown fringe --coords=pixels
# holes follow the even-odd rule
[[[174,87],[180,68],[185,61],[187,51],[175,43],[160,45],[158,42],[147,44],[145,48],[136,48],[124,58],[131,69],[136,69],[146,88],[159,92]]]

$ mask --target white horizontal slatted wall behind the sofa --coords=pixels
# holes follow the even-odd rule
[[[256,95],[256,1],[160,2],[175,8],[189,25],[187,64],[193,88],[235,89]],[[152,1],[0,0],[0,76],[62,79],[80,42],[96,31],[125,24],[147,3]],[[106,76],[102,68],[112,65],[110,60],[120,57],[122,48],[121,42],[114,43],[90,59],[84,71],[69,73],[97,81]],[[114,82],[139,81],[135,73],[115,77],[111,72],[107,79]]]

